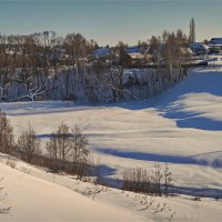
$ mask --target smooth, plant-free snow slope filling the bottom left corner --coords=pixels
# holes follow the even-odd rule
[[[23,173],[0,163],[1,186],[7,193],[1,208],[10,208],[0,221],[137,221],[130,212],[32,176],[31,168],[26,167]]]

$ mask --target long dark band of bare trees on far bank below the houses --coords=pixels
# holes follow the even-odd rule
[[[193,26],[191,30],[194,31]],[[194,33],[188,38],[182,30],[164,31],[162,37],[139,41],[140,49],[149,49],[149,59],[137,60],[139,71],[129,73],[133,59],[123,42],[98,58],[98,43],[80,33],[0,34],[0,99],[89,103],[147,99],[185,75],[183,64],[188,62],[188,53],[184,51],[191,41]],[[157,68],[144,70],[144,62],[152,62]]]

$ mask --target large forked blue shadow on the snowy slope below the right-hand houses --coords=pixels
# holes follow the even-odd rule
[[[153,108],[163,118],[175,120],[179,128],[222,131],[222,120],[203,117],[204,112],[186,111],[185,105],[180,104],[180,101],[182,103],[183,99],[190,93],[209,93],[215,97],[222,97],[221,72],[198,72],[199,70],[196,69],[194,73],[190,74],[185,80],[176,83],[173,88],[162,92],[160,95],[154,97],[149,101],[121,103],[117,107],[129,110],[143,110]],[[175,102],[179,104],[175,104]]]

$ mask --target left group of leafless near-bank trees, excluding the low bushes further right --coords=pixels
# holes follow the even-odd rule
[[[0,111],[0,152],[28,163],[46,167],[53,172],[75,174],[81,180],[89,174],[92,164],[88,144],[87,135],[78,125],[71,130],[64,123],[52,133],[46,149],[31,125],[16,141],[6,113]]]

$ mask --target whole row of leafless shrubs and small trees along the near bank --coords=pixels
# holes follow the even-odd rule
[[[88,138],[78,125],[70,129],[64,123],[61,123],[51,134],[46,147],[42,147],[41,140],[31,125],[20,133],[18,140],[14,140],[13,128],[6,113],[0,111],[0,152],[47,168],[52,172],[73,174],[79,180],[83,176],[93,176],[94,180],[89,181],[107,184],[102,169],[99,163],[93,162],[88,145]],[[14,168],[14,164],[10,163],[10,165]],[[121,189],[168,196],[173,188],[173,181],[168,165],[162,170],[160,164],[154,164],[152,171],[141,168],[125,169],[122,173]],[[117,180],[118,188],[120,188],[119,182]]]

